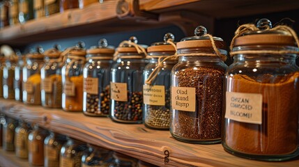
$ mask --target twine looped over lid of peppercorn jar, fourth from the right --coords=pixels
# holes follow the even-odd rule
[[[135,42],[132,42],[130,40],[124,40],[123,42],[121,42],[118,45],[118,47],[123,47],[124,45],[132,45],[137,50],[138,54],[144,54],[144,56],[148,56],[146,49],[144,49],[144,47],[141,47],[140,45],[138,45]],[[118,54],[119,54],[119,51],[116,49],[116,51],[114,53],[114,58],[113,58],[114,61],[116,61],[117,58],[144,58],[144,56],[140,56],[140,55],[118,56]]]

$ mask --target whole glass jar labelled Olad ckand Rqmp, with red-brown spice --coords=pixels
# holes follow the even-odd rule
[[[204,26],[194,33],[177,43],[179,59],[171,70],[170,133],[187,143],[219,143],[227,51],[222,49],[223,40],[207,35]]]

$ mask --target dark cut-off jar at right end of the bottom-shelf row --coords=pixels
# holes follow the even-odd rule
[[[113,160],[109,167],[137,167],[138,160],[119,152],[113,152]]]

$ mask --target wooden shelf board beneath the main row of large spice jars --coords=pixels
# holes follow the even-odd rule
[[[0,111],[13,118],[36,122],[54,132],[77,138],[109,150],[123,152],[158,166],[293,166],[299,159],[284,162],[254,161],[235,157],[222,145],[196,145],[176,141],[168,131],[144,125],[120,124],[109,118],[94,118],[83,113],[26,106],[14,100],[0,100]],[[169,157],[164,154],[169,152]],[[166,163],[165,160],[169,159]]]

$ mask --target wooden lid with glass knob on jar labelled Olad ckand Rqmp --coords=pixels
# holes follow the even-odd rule
[[[194,30],[194,36],[183,38],[181,40],[181,42],[178,42],[176,44],[176,47],[178,49],[213,47],[212,42],[210,41],[210,38],[208,36],[206,36],[207,33],[208,33],[208,31],[206,30],[206,27],[197,26],[197,28]],[[213,40],[215,41],[215,45],[217,48],[221,49],[224,47],[224,41],[222,40],[222,38],[213,37]]]

